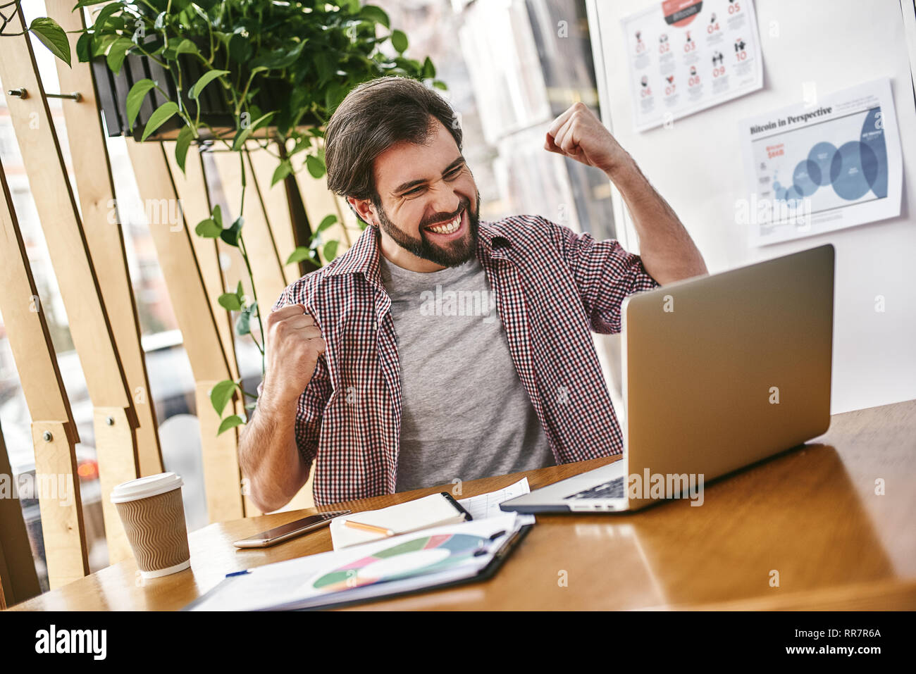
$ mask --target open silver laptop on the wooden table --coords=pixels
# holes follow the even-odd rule
[[[706,483],[829,428],[833,245],[638,292],[621,312],[623,459],[502,510],[702,505]]]

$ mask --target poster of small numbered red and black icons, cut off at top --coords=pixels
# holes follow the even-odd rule
[[[637,131],[763,86],[751,0],[665,0],[621,23]]]

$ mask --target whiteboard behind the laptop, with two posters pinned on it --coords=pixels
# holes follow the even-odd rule
[[[656,0],[653,0],[653,2]],[[910,0],[907,11],[912,12]],[[588,0],[602,119],[681,218],[710,273],[831,243],[836,250],[831,413],[916,398],[916,106],[912,17],[900,0],[758,0],[764,86],[637,133],[621,19],[646,0]],[[914,52],[916,53],[916,52]],[[900,217],[750,247],[736,224],[748,187],[737,121],[879,77],[891,79],[903,151]],[[617,237],[638,252],[616,190]],[[880,296],[880,297],[879,297]],[[876,310],[883,299],[883,311]],[[748,353],[748,357],[754,357]]]

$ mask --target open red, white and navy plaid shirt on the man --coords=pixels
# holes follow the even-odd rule
[[[273,306],[303,304],[327,342],[296,417],[320,506],[395,491],[400,365],[377,236],[367,227]],[[557,463],[619,454],[623,438],[591,332],[620,332],[623,299],[660,284],[615,239],[595,241],[539,215],[480,221],[476,255]]]

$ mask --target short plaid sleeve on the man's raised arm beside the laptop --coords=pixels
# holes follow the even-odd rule
[[[550,222],[550,221],[548,221]],[[620,332],[620,308],[627,295],[660,288],[639,255],[627,253],[616,239],[596,241],[551,223],[561,254],[573,273],[583,308],[594,332]]]

